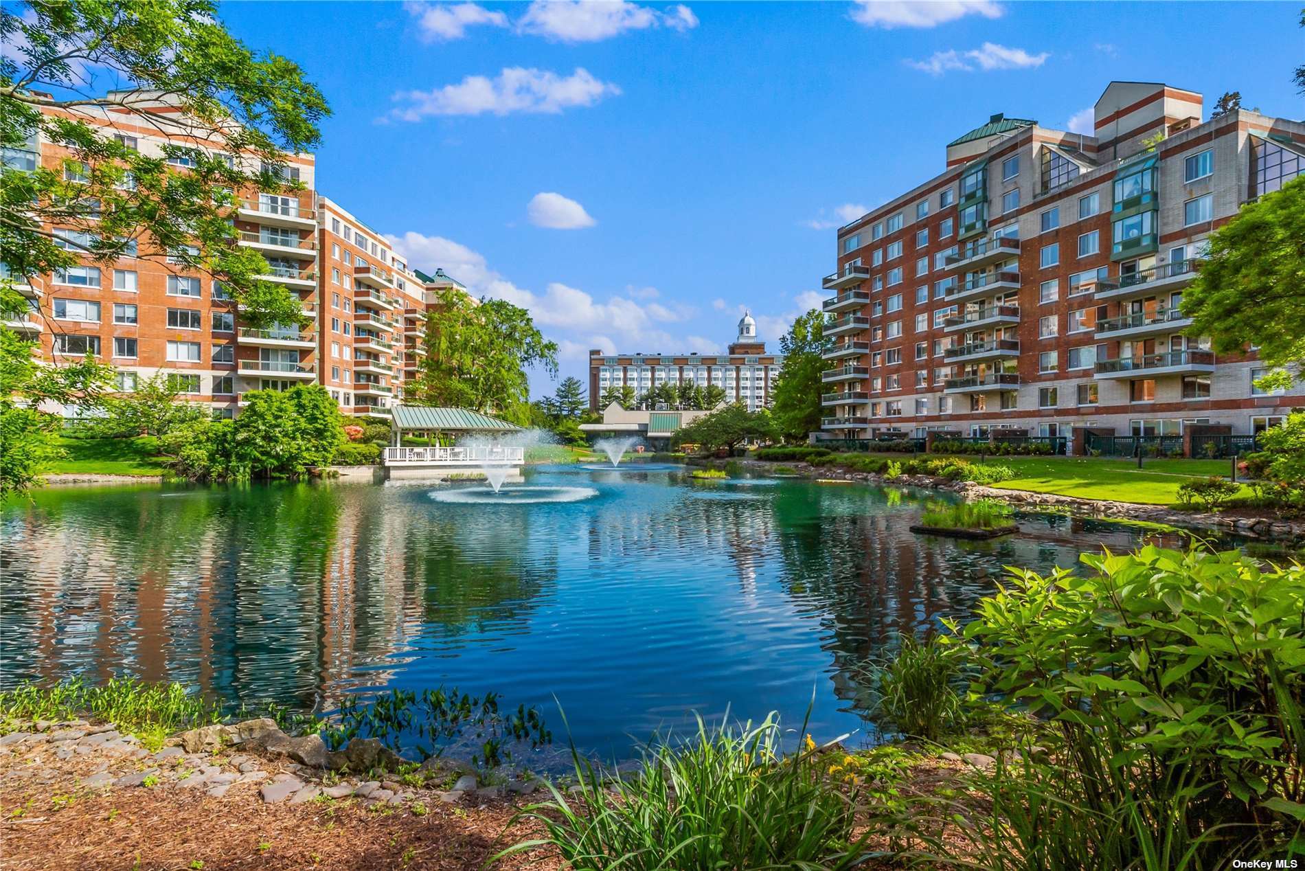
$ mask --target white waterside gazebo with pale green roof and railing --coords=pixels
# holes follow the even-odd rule
[[[521,427],[488,414],[467,409],[395,405],[390,409],[392,445],[385,449],[385,466],[397,469],[437,470],[467,466],[521,466],[526,449],[499,444],[495,436],[521,432]],[[425,447],[405,447],[403,439],[425,436]],[[445,436],[484,436],[482,444],[440,444]]]

